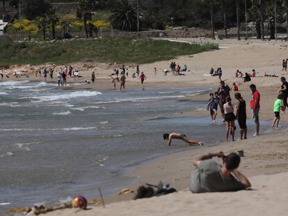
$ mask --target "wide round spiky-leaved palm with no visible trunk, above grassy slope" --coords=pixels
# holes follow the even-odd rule
[[[137,4],[134,0],[116,1],[109,17],[113,28],[127,31],[137,29]]]

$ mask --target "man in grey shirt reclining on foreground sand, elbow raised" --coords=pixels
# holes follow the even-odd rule
[[[211,160],[213,157],[223,158],[223,166]],[[196,158],[193,164],[196,167],[190,180],[190,191],[193,193],[237,191],[251,187],[248,178],[237,170],[240,164],[237,153],[228,156],[224,156],[222,151],[208,153]]]

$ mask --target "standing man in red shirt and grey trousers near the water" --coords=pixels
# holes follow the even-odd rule
[[[260,128],[260,123],[259,123],[260,93],[257,91],[256,85],[254,84],[250,85],[250,90],[252,92],[252,97],[250,100],[250,108],[252,111],[252,117],[256,124],[256,131],[254,134],[255,136],[255,135],[259,135],[259,128]]]

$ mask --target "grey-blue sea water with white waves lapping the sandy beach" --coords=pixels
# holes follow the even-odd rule
[[[193,148],[179,140],[168,147],[163,133],[185,133],[207,146],[223,142],[225,126],[211,126],[209,117],[169,117],[205,108],[206,97],[185,98],[209,90],[65,90],[1,82],[0,211],[77,194],[95,198],[97,188],[109,195],[135,181],[129,172],[136,165]]]

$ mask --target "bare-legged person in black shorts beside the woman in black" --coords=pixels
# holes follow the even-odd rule
[[[235,132],[235,115],[234,115],[234,106],[232,104],[231,98],[227,97],[227,103],[224,104],[224,119],[226,122],[226,136],[225,136],[225,142],[228,142],[229,132],[231,130],[232,135],[232,141],[234,141],[234,132]]]

